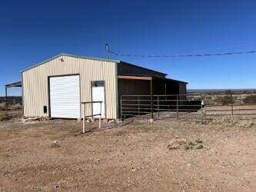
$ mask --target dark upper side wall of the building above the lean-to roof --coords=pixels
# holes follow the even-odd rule
[[[129,65],[128,63],[125,63],[121,61],[118,63],[118,75],[121,74],[137,74],[137,75],[149,75],[149,76],[155,76],[155,77],[161,77],[165,78],[165,74],[161,74],[157,71],[151,71],[147,68],[140,68],[135,65]]]

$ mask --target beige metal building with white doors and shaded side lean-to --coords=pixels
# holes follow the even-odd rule
[[[122,94],[185,94],[186,82],[124,61],[61,54],[22,72],[25,117],[82,118],[83,101],[103,101],[102,118],[119,118]],[[97,114],[98,105],[86,108]]]

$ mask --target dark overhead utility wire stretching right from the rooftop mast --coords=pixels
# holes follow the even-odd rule
[[[224,56],[224,55],[244,55],[256,53],[256,51],[238,51],[238,52],[226,52],[226,53],[213,53],[213,54],[198,54],[198,55],[125,55],[119,54],[115,51],[108,51],[112,55],[121,57],[139,57],[139,58],[185,58],[185,57],[207,57],[207,56]]]

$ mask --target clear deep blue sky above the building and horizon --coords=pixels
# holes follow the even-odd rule
[[[256,50],[256,1],[4,1],[0,95],[19,71],[65,52],[105,58]],[[188,81],[188,88],[255,88],[256,54],[122,58]],[[20,94],[20,88],[10,94]]]

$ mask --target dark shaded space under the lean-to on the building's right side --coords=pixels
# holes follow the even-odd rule
[[[180,86],[182,84],[183,86]],[[152,93],[151,93],[152,85]],[[167,78],[118,78],[118,103],[119,116],[122,110],[137,113],[138,104],[139,111],[143,114],[151,111],[151,94],[153,95],[153,108],[158,104],[161,109],[170,110],[176,108],[177,95],[186,93],[186,84],[181,81],[174,81]],[[170,96],[170,94],[172,94]],[[125,96],[129,95],[129,96]],[[131,96],[133,95],[133,96]],[[169,96],[166,96],[169,95]],[[181,99],[181,98],[179,98]],[[127,101],[126,101],[127,100]],[[174,101],[167,101],[174,100]],[[181,101],[179,101],[181,104]],[[161,106],[162,105],[162,106]],[[165,105],[165,106],[164,106]],[[168,107],[167,107],[168,105]],[[172,106],[171,106],[172,105]]]

